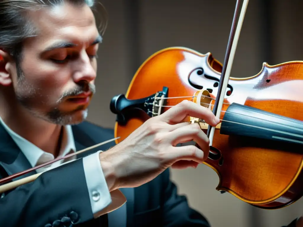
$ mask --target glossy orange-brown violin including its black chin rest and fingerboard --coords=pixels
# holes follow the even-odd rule
[[[121,137],[116,143],[148,118],[184,99],[194,101],[199,91],[206,90],[215,99],[221,70],[222,64],[210,53],[175,47],[153,54],[138,69],[125,96],[112,99],[115,137]],[[281,208],[301,198],[302,87],[303,61],[264,63],[255,76],[230,77],[222,122],[204,162],[219,176],[217,190],[264,209]],[[206,133],[208,125],[200,125]]]

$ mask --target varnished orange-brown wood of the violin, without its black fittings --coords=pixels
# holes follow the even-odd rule
[[[148,58],[135,74],[126,97],[139,99],[168,87],[168,97],[193,96],[193,84],[208,89],[216,97],[216,81],[220,79],[221,63],[210,53],[200,54],[187,48],[167,48]],[[203,69],[204,74],[196,74]],[[216,70],[215,70],[215,69]],[[209,79],[210,77],[213,79]],[[229,80],[231,95],[225,96],[222,110],[231,103],[255,107],[271,113],[303,120],[303,62],[287,62],[275,66],[264,63],[257,75]],[[174,106],[185,98],[167,99]],[[192,98],[186,98],[192,100]],[[214,104],[214,102],[213,102]],[[162,108],[162,112],[170,107]],[[221,119],[224,117],[221,113]],[[132,119],[124,126],[116,123],[115,137],[124,140],[149,117],[133,110]],[[206,130],[205,130],[206,132]],[[278,145],[273,141],[220,134],[215,130],[213,144],[220,150],[223,164],[207,159],[220,179],[218,190],[263,208],[278,208],[302,196],[302,146]]]

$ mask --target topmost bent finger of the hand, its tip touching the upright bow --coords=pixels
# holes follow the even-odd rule
[[[188,100],[183,100],[159,115],[160,119],[167,123],[179,123],[187,116],[204,119],[211,126],[216,126],[220,122],[211,110]]]

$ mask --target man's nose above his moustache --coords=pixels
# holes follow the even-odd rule
[[[75,83],[80,81],[91,82],[96,79],[97,67],[93,67],[92,60],[88,57],[85,50],[81,51],[78,61],[74,62],[73,68],[75,69],[73,73]]]

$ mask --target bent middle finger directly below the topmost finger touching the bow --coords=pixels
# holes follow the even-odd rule
[[[194,140],[201,149],[207,153],[209,152],[209,139],[206,134],[201,130],[198,123],[189,124],[174,131],[169,132],[166,139],[171,141],[173,146],[184,141]]]

